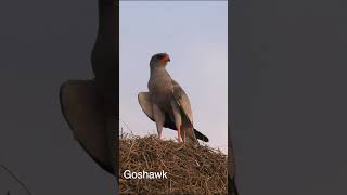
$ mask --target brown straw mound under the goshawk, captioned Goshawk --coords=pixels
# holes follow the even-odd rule
[[[228,156],[157,135],[120,139],[120,194],[227,194]],[[167,172],[167,179],[126,179],[124,172]]]

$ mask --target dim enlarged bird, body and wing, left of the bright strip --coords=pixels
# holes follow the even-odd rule
[[[94,78],[61,86],[64,118],[91,158],[108,173],[118,174],[118,1],[99,0],[99,29],[91,63]]]

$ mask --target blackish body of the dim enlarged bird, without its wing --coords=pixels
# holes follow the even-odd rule
[[[99,30],[91,62],[104,98],[111,162],[118,180],[119,2],[116,0],[99,0]]]

